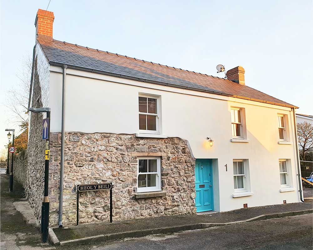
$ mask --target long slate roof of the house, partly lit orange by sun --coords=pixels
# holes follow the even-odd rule
[[[57,40],[37,39],[37,41],[51,65],[66,64],[71,68],[90,70],[121,78],[295,107],[254,88],[223,78],[168,67]]]

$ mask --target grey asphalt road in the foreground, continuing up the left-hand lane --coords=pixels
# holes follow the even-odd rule
[[[312,213],[114,242],[52,246],[41,243],[39,230],[26,224],[22,214],[13,206],[14,201],[21,201],[24,197],[20,184],[15,182],[14,192],[8,193],[8,176],[1,174],[0,185],[1,250],[312,250],[313,247]]]

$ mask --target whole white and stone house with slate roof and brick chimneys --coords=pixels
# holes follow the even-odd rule
[[[227,80],[61,42],[53,21],[38,10],[29,98],[51,108],[51,225],[76,223],[78,184],[112,182],[113,221],[300,202],[296,106],[240,66]],[[43,118],[29,114],[24,176],[38,218]],[[80,223],[108,219],[108,191],[80,194]]]

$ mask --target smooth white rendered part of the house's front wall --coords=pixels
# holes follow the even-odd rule
[[[56,67],[52,70],[61,72]],[[188,140],[195,158],[218,159],[215,166],[218,166],[220,211],[241,208],[244,203],[253,207],[282,204],[283,200],[287,203],[300,201],[294,125],[290,108],[72,69],[67,72],[65,131],[138,133],[138,93],[160,95],[162,134]],[[51,93],[56,93],[54,100],[50,101],[51,108],[60,112],[62,74],[50,72],[50,75]],[[55,89],[52,90],[53,88]],[[248,143],[230,142],[231,106],[245,109],[247,139],[250,140]],[[277,143],[277,113],[288,116],[291,145]],[[55,122],[51,122],[51,131],[59,132],[60,114],[55,112],[54,119]],[[207,137],[214,140],[213,147],[208,146]],[[251,191],[254,195],[232,197],[233,159],[249,159]],[[290,176],[296,191],[279,191],[279,159],[291,159]],[[228,165],[227,172],[225,164]]]

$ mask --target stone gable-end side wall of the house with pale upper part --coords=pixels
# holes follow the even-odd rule
[[[49,64],[38,42],[35,53],[31,107],[47,107],[49,106]],[[28,164],[26,168],[23,166],[23,169],[22,165],[17,165],[15,168],[16,178],[23,184],[28,202],[39,223],[44,193],[43,118],[45,118],[45,114],[29,112]]]

